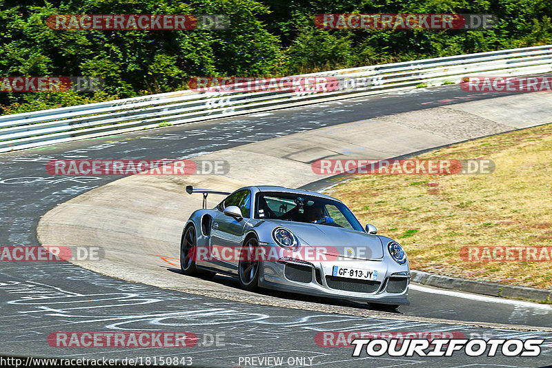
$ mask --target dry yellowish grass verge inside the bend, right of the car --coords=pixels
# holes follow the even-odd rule
[[[328,190],[402,243],[412,269],[549,289],[552,260],[468,261],[466,246],[552,246],[552,124],[468,141],[417,159],[492,159],[493,174],[358,175]]]

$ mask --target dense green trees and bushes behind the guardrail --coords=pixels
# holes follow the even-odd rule
[[[320,30],[322,13],[486,13],[494,30]],[[227,30],[52,30],[52,14],[226,14]],[[16,113],[188,88],[552,43],[552,0],[0,0],[1,76],[101,76],[102,92],[0,92]]]

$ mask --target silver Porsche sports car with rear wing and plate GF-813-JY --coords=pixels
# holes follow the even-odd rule
[[[204,196],[182,232],[186,275],[237,276],[241,287],[278,289],[389,308],[408,305],[410,272],[401,245],[362,227],[341,201],[307,190],[243,187],[233,193],[188,185]],[[227,195],[206,209],[208,194]]]

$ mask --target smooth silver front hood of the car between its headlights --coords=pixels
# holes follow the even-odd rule
[[[326,248],[324,253],[331,256],[364,260],[383,258],[384,256],[382,241],[376,235],[331,225],[281,220],[265,221],[290,229],[303,244],[307,243],[317,249],[318,247]]]

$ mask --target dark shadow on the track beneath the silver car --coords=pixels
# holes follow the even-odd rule
[[[181,269],[177,268],[166,268],[170,272],[174,272],[175,274],[181,274]],[[215,277],[213,277],[211,280],[206,280],[210,283],[216,283],[218,285],[224,285],[226,287],[231,287],[233,289],[239,289],[242,290],[239,287],[239,281],[236,277],[232,276],[226,276],[221,274],[216,274]],[[288,300],[296,300],[296,301],[302,301],[302,302],[309,302],[309,303],[320,303],[325,305],[335,305],[339,307],[352,307],[352,308],[359,308],[359,309],[370,309],[375,311],[386,311],[387,313],[394,313],[394,314],[403,314],[401,311],[395,309],[395,310],[389,310],[386,309],[383,305],[376,305],[376,304],[362,304],[362,303],[354,303],[348,300],[342,300],[342,299],[334,299],[334,298],[322,298],[317,296],[308,296],[308,295],[302,295],[302,294],[295,294],[290,292],[280,292],[277,290],[270,290],[270,289],[259,289],[255,294],[258,294],[259,296],[271,296],[273,298],[279,298],[279,299],[288,299]]]

